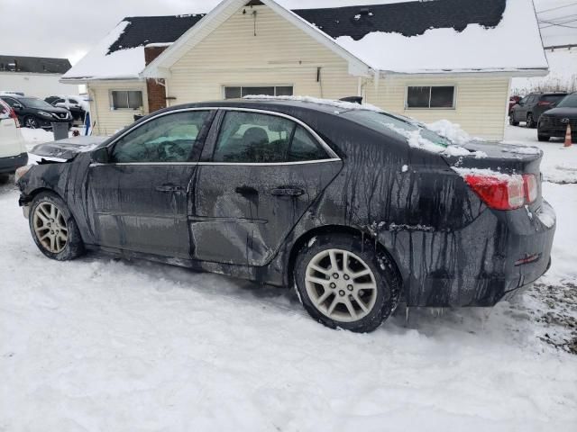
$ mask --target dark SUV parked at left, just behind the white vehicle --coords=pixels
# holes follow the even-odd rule
[[[1,94],[0,99],[12,107],[20,124],[25,128],[50,130],[52,123],[60,122],[66,122],[69,123],[69,127],[72,126],[72,116],[69,110],[57,108],[36,97]]]

